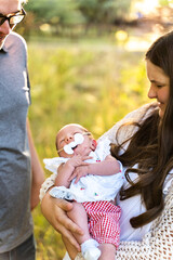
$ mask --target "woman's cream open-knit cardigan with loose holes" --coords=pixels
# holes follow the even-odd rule
[[[154,108],[148,108],[148,104],[130,113],[121,121],[117,122],[109,131],[101,136],[108,136],[115,143],[116,132],[119,127],[128,121],[137,121],[142,115],[146,118]],[[118,135],[121,142],[131,136],[136,131],[135,127],[122,128]],[[45,180],[40,190],[40,199],[44,196],[46,190],[54,184],[56,174],[52,174]],[[150,231],[143,237],[141,242],[121,242],[117,250],[117,260],[172,260],[173,259],[173,182],[165,197],[165,206],[162,213],[152,221]],[[65,257],[64,259],[68,259]],[[83,259],[79,253],[76,260]]]

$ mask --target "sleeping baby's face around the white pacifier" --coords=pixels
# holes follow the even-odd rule
[[[80,133],[83,136],[83,142],[77,144],[75,147],[71,147],[71,153],[65,152],[65,145],[75,142],[75,134]],[[56,135],[56,146],[59,151],[58,154],[61,157],[72,157],[74,155],[85,156],[89,155],[92,151],[92,139],[90,135],[83,134],[86,133],[82,128],[77,125],[65,126]],[[62,151],[61,151],[62,150]]]

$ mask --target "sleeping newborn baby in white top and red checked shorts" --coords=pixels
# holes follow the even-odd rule
[[[110,155],[110,141],[96,143],[78,123],[63,127],[56,135],[59,157],[44,159],[45,168],[57,173],[51,196],[72,202],[68,217],[82,230],[75,235],[85,260],[115,260],[119,245],[120,207],[115,197],[123,184],[121,164]],[[71,259],[76,253],[63,238]]]

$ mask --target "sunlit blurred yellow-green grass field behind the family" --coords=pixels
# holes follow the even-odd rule
[[[97,139],[147,100],[144,53],[114,43],[29,43],[29,117],[42,161],[56,156],[55,134],[78,122]],[[50,172],[46,172],[46,177]],[[61,260],[65,248],[40,208],[34,211],[37,260]]]

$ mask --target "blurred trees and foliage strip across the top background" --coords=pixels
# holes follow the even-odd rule
[[[152,21],[161,26],[173,24],[173,0],[158,0],[160,6],[155,10],[155,15],[148,17],[143,15],[143,11],[135,11],[136,3],[143,1],[28,0],[25,4],[27,18],[16,29],[27,40],[36,36],[78,39],[83,36],[99,37],[115,31],[117,26],[122,29],[142,23],[143,26],[148,26],[148,18],[150,23]]]

